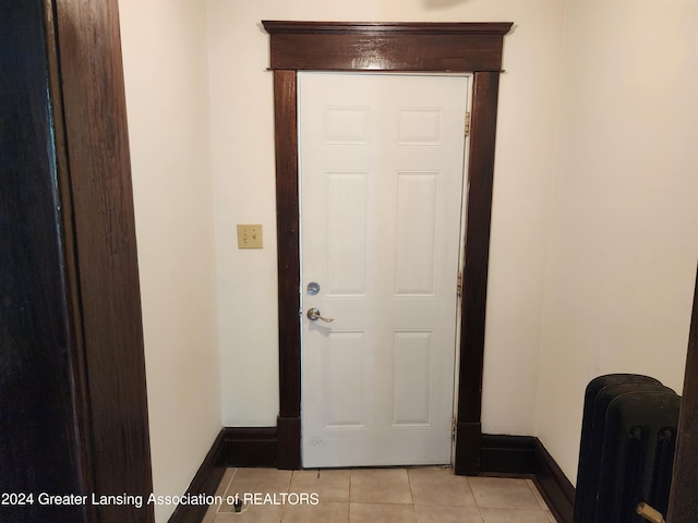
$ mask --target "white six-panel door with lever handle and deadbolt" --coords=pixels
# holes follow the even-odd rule
[[[298,85],[303,466],[450,463],[468,77]]]

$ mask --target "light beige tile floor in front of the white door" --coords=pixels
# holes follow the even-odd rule
[[[253,501],[239,513],[236,494]],[[202,523],[555,523],[530,479],[444,467],[228,469],[216,495]]]

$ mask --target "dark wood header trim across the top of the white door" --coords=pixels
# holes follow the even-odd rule
[[[500,71],[509,22],[279,22],[270,35],[273,70]]]

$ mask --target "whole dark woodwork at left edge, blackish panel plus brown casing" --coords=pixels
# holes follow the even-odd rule
[[[8,0],[0,12],[0,490],[147,500],[118,2]],[[154,521],[152,504],[89,501],[35,498],[0,520]]]

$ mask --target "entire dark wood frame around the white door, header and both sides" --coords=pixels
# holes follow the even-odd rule
[[[482,374],[502,48],[513,23],[263,21],[274,73],[279,469],[301,467],[299,71],[473,73],[456,417],[457,474],[480,472]]]

